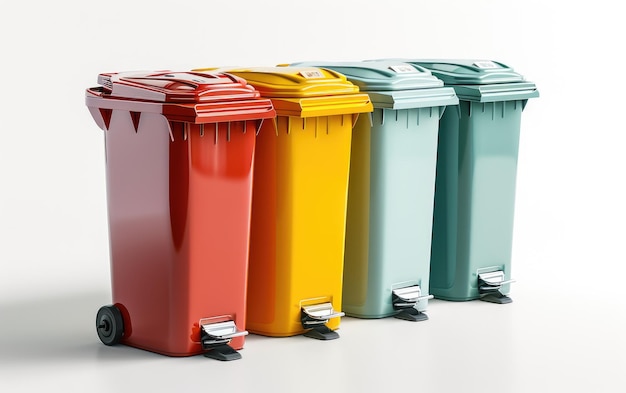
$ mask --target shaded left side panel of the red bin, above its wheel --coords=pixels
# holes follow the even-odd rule
[[[129,112],[114,110],[104,134],[112,296],[124,314],[123,342],[162,353],[172,349],[170,318],[181,320],[181,309],[170,309],[169,291],[163,290],[174,254],[170,136],[158,114],[144,114],[140,127],[135,133]]]

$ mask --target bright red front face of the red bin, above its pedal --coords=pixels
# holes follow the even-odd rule
[[[203,136],[199,128],[191,125],[186,146],[191,162],[186,228],[189,323],[196,326],[201,318],[222,316],[243,331],[255,126],[243,121],[207,124]],[[242,336],[229,345],[239,349],[243,343]]]

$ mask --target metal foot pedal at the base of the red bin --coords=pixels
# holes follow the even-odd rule
[[[217,360],[241,359],[241,354],[228,345],[235,337],[246,336],[247,330],[238,330],[234,321],[202,324],[200,340],[204,356]]]

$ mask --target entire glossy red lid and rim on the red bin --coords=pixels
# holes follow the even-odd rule
[[[87,89],[85,102],[102,129],[108,129],[113,110],[135,113],[135,123],[144,112],[197,124],[276,116],[269,99],[244,79],[223,72],[103,73],[98,82],[102,86]]]

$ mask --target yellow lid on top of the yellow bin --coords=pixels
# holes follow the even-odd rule
[[[373,111],[370,98],[343,74],[317,67],[203,68],[245,79],[270,98],[279,116],[330,116]]]

